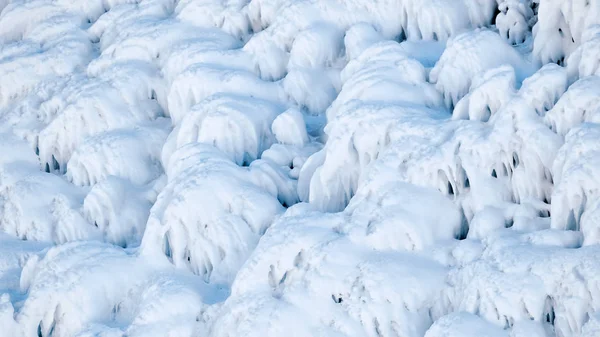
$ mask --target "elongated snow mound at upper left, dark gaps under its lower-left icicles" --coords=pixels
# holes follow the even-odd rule
[[[113,72],[89,80],[78,77],[44,106],[56,117],[40,131],[36,146],[46,170],[66,171],[66,163],[87,137],[126,128],[162,115],[153,98],[156,71],[116,65]],[[64,133],[64,130],[72,130]],[[83,183],[83,181],[82,181]]]

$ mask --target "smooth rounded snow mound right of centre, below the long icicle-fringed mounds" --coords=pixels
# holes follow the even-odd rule
[[[464,237],[463,219],[450,200],[434,189],[400,183],[392,177],[381,174],[362,184],[344,210],[365,224],[365,244],[376,249],[422,250],[437,241]],[[433,207],[435,214],[421,211]]]

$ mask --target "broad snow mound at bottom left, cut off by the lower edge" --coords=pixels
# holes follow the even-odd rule
[[[169,273],[97,242],[52,248],[23,269],[16,336],[192,336],[205,303],[227,292]]]

